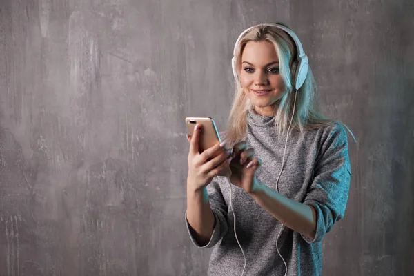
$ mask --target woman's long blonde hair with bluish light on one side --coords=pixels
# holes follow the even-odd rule
[[[278,24],[286,26],[284,23]],[[293,89],[291,81],[292,68],[295,66],[293,65],[293,61],[295,61],[295,57],[297,56],[295,42],[284,30],[275,26],[256,26],[246,32],[244,37],[239,41],[239,45],[237,45],[235,59],[238,75],[241,70],[242,52],[246,43],[249,41],[269,41],[275,46],[277,56],[279,57],[279,74],[282,76],[286,88],[286,94],[275,104],[275,130],[279,136],[281,134],[286,135],[290,119],[292,119],[293,103],[295,101],[295,90]],[[224,132],[226,141],[229,144],[234,145],[246,138],[247,114],[249,109],[254,109],[254,106],[244,94],[241,83],[235,80],[235,96],[228,118],[228,128]],[[312,70],[309,68],[304,84],[297,90],[295,115],[293,116],[289,132],[291,130],[299,130],[303,134],[304,130],[312,130],[335,123],[342,124],[355,140],[351,130],[345,124],[340,121],[328,119],[319,110],[317,103],[317,85]]]

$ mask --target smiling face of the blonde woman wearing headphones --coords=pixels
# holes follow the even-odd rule
[[[277,100],[285,94],[279,59],[273,43],[249,41],[242,53],[240,82],[259,115],[274,116]]]

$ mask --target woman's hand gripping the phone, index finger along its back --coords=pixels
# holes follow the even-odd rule
[[[213,177],[228,167],[232,154],[232,149],[226,148],[225,143],[217,144],[199,153],[200,132],[201,125],[197,125],[193,137],[187,134],[190,143],[187,188],[191,188],[193,191],[201,190],[210,184]]]

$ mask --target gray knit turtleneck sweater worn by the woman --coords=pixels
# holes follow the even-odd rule
[[[275,117],[249,111],[246,141],[263,161],[257,170],[257,179],[276,190],[286,135],[278,139],[274,120]],[[304,136],[293,132],[289,137],[284,170],[279,179],[279,193],[313,206],[317,214],[317,230],[315,239],[311,240],[283,226],[277,244],[288,266],[286,275],[322,275],[322,239],[333,228],[335,221],[344,217],[350,179],[348,139],[342,125],[308,130]],[[283,276],[285,266],[276,249],[282,224],[242,188],[234,185],[232,188],[236,234],[247,259],[244,275]],[[233,230],[228,179],[215,177],[207,190],[215,217],[213,235],[210,242],[203,246],[214,246],[208,275],[242,275],[244,258]],[[201,247],[195,241],[187,220],[186,226],[195,246]]]

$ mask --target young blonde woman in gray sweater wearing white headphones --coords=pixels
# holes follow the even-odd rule
[[[201,127],[187,136],[190,237],[215,246],[208,275],[321,275],[322,239],[348,199],[346,126],[319,112],[308,59],[286,25],[244,31],[233,72],[225,142],[199,153]],[[226,166],[231,177],[220,176]]]

